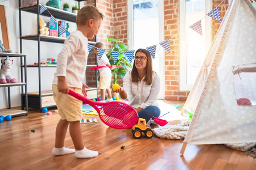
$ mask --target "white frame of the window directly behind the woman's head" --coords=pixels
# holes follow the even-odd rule
[[[127,1],[128,6],[128,50],[136,50],[134,49],[134,42],[133,42],[133,0]],[[164,41],[164,2],[159,0],[159,42]],[[154,42],[152,42],[154,43]],[[154,44],[152,44],[154,45]],[[157,44],[159,46],[160,44]],[[160,92],[158,95],[158,99],[164,99],[164,89],[165,89],[165,73],[164,73],[164,49],[162,46],[159,49],[159,73],[160,76]]]

